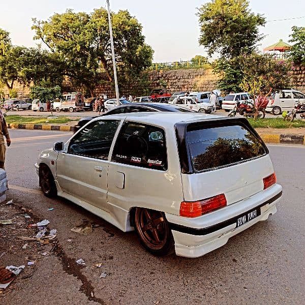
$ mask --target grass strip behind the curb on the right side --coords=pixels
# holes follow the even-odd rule
[[[294,119],[293,122],[284,121],[281,117],[278,118],[259,118],[257,120],[248,118],[249,123],[254,128],[299,128],[305,127],[305,120]]]

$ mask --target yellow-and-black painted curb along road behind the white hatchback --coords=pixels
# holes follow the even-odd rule
[[[8,124],[10,129],[28,129],[28,130],[55,130],[55,131],[74,131],[74,126],[66,125],[36,125],[36,124]],[[260,134],[265,143],[278,144],[302,144],[305,145],[304,135],[293,134]]]

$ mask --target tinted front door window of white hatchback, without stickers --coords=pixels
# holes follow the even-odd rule
[[[107,160],[119,120],[98,120],[86,126],[70,141],[68,154]]]

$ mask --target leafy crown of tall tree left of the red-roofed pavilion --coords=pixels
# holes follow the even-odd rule
[[[247,0],[211,0],[198,10],[199,44],[207,48],[209,55],[249,54],[263,38],[258,27],[265,24],[265,18],[252,13]]]

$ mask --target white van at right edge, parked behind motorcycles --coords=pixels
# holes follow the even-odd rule
[[[280,93],[274,93],[269,99],[266,112],[279,115],[283,111],[291,111],[296,102],[305,104],[305,95],[294,89],[282,90]]]

